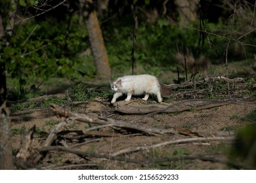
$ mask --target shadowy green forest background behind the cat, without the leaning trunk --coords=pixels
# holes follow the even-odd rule
[[[100,63],[84,21],[91,10],[81,1],[19,2],[9,44],[1,44],[11,90],[35,89],[56,76],[75,82],[95,78]],[[106,0],[90,6],[108,54],[108,79],[131,74],[132,61],[135,74],[176,73],[179,54],[199,65],[254,59],[255,1]]]

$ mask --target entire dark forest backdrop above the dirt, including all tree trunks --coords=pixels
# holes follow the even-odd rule
[[[54,78],[106,85],[142,73],[167,83],[178,71],[253,75],[255,9],[238,0],[1,0],[0,169],[12,169],[7,99],[34,97],[47,82],[64,89]],[[245,69],[228,70],[235,62]]]

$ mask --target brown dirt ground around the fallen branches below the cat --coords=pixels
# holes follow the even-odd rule
[[[54,95],[64,97],[65,94]],[[31,101],[41,103],[48,99],[44,95]],[[161,105],[181,105],[194,99],[165,99]],[[240,99],[241,101],[241,99]],[[103,98],[92,101],[74,103],[72,107],[66,107],[72,112],[101,116],[118,122],[150,129],[163,129],[170,131],[163,135],[150,135],[120,127],[104,126],[96,129],[102,135],[79,134],[77,131],[85,131],[93,127],[85,122],[71,121],[58,133],[52,146],[64,146],[72,150],[87,153],[87,156],[66,152],[65,150],[50,150],[34,165],[28,165],[29,169],[235,169],[235,165],[227,165],[229,161],[232,131],[242,127],[248,122],[244,116],[249,114],[255,104],[228,103],[219,107],[210,107],[203,110],[186,110],[183,112],[163,112],[151,115],[146,114],[122,114],[116,111],[116,106],[138,107],[158,105],[152,99],[142,101],[139,97],[133,97],[131,101],[117,101],[110,105]],[[65,107],[64,107],[65,108]],[[141,117],[139,119],[139,117]],[[12,131],[29,129],[35,125],[37,131],[33,139],[33,146],[42,147],[54,125],[65,118],[56,116],[50,107],[33,107],[24,110],[16,110],[11,114]],[[95,130],[91,130],[95,131]],[[182,133],[184,131],[184,133]],[[103,133],[104,132],[104,133]],[[176,133],[173,133],[176,132]],[[196,133],[193,133],[196,132]],[[221,136],[221,140],[200,141],[200,133],[223,132],[230,135]],[[106,134],[105,134],[106,133]],[[209,135],[208,137],[219,137]],[[233,137],[233,136],[232,136]],[[182,139],[195,139],[191,142],[177,142]],[[197,138],[197,139],[196,139]],[[18,152],[22,146],[24,133],[12,135],[13,149]],[[174,141],[171,143],[171,141]],[[176,142],[175,142],[176,141]],[[166,142],[166,144],[161,144]],[[168,143],[169,142],[169,143]],[[161,144],[157,146],[156,144]],[[135,150],[137,148],[137,150]],[[131,151],[129,151],[131,150]],[[89,156],[91,154],[92,156]],[[115,155],[119,154],[119,155]],[[98,156],[98,157],[97,157]],[[29,162],[29,161],[28,161]],[[20,167],[16,167],[20,169]]]

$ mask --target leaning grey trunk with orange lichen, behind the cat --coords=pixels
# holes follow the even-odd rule
[[[100,78],[110,79],[111,70],[108,54],[106,52],[93,0],[80,0],[80,6],[83,10],[83,18],[85,19],[87,31],[89,33],[97,75]]]

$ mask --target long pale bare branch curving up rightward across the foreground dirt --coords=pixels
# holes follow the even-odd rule
[[[190,139],[178,139],[175,141],[166,141],[161,142],[159,144],[154,144],[152,146],[139,146],[136,148],[126,148],[119,150],[118,152],[114,152],[110,154],[110,156],[117,156],[120,154],[127,154],[130,152],[137,152],[140,150],[148,150],[149,148],[158,148],[160,146],[167,146],[169,144],[181,144],[181,143],[188,143],[188,142],[205,142],[205,141],[233,141],[234,137],[196,137],[196,138],[190,138]]]

